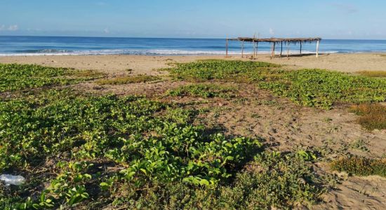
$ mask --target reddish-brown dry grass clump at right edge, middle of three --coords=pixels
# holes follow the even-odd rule
[[[360,104],[351,107],[351,111],[361,116],[358,123],[367,130],[386,129],[386,106],[380,104]]]

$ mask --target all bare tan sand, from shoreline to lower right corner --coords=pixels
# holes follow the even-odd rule
[[[67,67],[79,70],[96,70],[105,73],[107,84],[96,80],[65,85],[66,88],[95,95],[117,94],[119,96],[145,95],[157,102],[186,104],[194,109],[207,109],[207,116],[198,116],[205,125],[221,125],[229,136],[265,139],[265,144],[274,151],[293,151],[295,148],[310,148],[326,153],[327,160],[338,155],[362,155],[380,158],[386,152],[386,130],[365,130],[357,122],[358,116],[350,111],[349,105],[336,104],[331,110],[315,109],[293,103],[286,97],[279,97],[267,90],[261,90],[254,83],[239,83],[237,80],[214,81],[218,87],[237,90],[236,99],[214,97],[171,97],[166,93],[197,81],[171,79],[168,71],[175,63],[188,63],[203,59],[224,59],[251,61],[251,55],[36,55],[0,57],[4,64],[38,64],[42,66]],[[284,70],[326,69],[355,74],[358,71],[386,71],[386,53],[336,53],[315,55],[269,57],[258,55],[256,62],[280,64]],[[272,69],[275,71],[275,69]],[[317,70],[316,70],[317,71]],[[109,80],[147,74],[157,77],[154,82],[108,84]],[[340,73],[342,74],[342,73]],[[161,79],[159,79],[161,78]],[[212,83],[206,81],[204,85]],[[333,84],[335,85],[335,84]],[[209,86],[210,87],[210,86]],[[44,90],[44,89],[43,89]],[[4,94],[4,97],[11,97]],[[190,104],[190,105],[187,105]],[[182,106],[182,105],[181,105]],[[201,123],[202,123],[201,122]],[[360,139],[360,141],[358,140]],[[359,142],[359,143],[357,143]],[[360,146],[353,146],[360,144]],[[364,149],[365,148],[365,149]],[[386,202],[386,179],[380,176],[349,176],[336,174],[327,162],[315,162],[318,174],[334,174],[336,189],[321,196],[323,202],[313,209],[373,208],[382,209]],[[338,178],[336,178],[338,177]],[[363,192],[365,193],[363,193]]]

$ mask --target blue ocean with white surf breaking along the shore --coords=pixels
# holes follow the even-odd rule
[[[268,53],[269,43],[259,43],[258,53]],[[299,53],[291,45],[291,54]],[[315,43],[302,47],[314,53]],[[279,52],[280,48],[277,48]],[[284,48],[284,52],[286,52]],[[253,51],[245,44],[245,53]],[[321,53],[386,52],[386,40],[324,39]],[[223,55],[225,38],[107,38],[69,36],[0,36],[0,56],[11,55]],[[230,41],[229,54],[241,54],[241,43]]]

